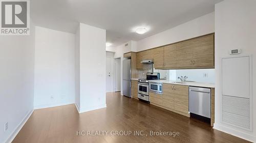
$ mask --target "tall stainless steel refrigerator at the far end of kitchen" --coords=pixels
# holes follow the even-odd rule
[[[131,59],[123,60],[123,95],[131,96]]]

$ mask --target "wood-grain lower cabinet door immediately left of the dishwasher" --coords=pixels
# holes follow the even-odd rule
[[[176,84],[174,89],[174,109],[188,113],[188,86]]]

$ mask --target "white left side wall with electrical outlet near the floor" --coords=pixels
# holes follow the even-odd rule
[[[0,36],[0,142],[11,140],[34,102],[34,26],[30,36]],[[8,130],[4,125],[8,122]]]

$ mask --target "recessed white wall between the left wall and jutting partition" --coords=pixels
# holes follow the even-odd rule
[[[35,108],[75,102],[75,35],[35,27]]]

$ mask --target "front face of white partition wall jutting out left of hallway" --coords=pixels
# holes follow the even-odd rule
[[[80,23],[80,112],[106,107],[106,31]]]

